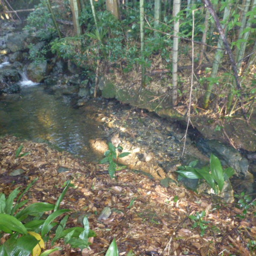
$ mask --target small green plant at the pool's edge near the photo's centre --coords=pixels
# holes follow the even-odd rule
[[[118,156],[116,154],[116,151],[118,152],[122,152],[123,151],[123,147],[118,146],[115,147],[111,142],[108,143],[108,150],[104,153],[104,157],[101,161],[100,164],[105,164],[108,163],[108,173],[111,179],[116,178],[116,162],[117,162],[117,158],[122,158],[125,156],[128,156],[129,154],[131,154],[130,152],[123,152],[120,153]]]

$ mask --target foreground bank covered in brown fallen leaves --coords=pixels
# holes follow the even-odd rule
[[[30,154],[15,158],[21,144],[22,152]],[[119,255],[131,250],[134,255],[154,256],[255,255],[253,209],[241,219],[237,215],[242,210],[234,204],[225,205],[218,198],[198,195],[175,183],[164,188],[159,181],[130,170],[118,172],[118,181],[110,180],[107,165],[88,163],[46,144],[5,137],[0,139],[0,148],[1,193],[8,195],[18,186],[25,188],[38,177],[25,197],[31,203],[54,204],[65,181],[72,180],[75,185],[61,204],[72,210],[68,225],[81,225],[79,220],[86,214],[97,237],[83,254],[63,246],[62,255],[105,255],[114,237]],[[58,172],[60,167],[68,170]],[[16,169],[25,172],[10,176]],[[111,215],[99,221],[100,212],[107,206]],[[194,221],[188,218],[202,211],[206,211],[204,220],[209,221],[203,237],[200,228],[192,228]]]

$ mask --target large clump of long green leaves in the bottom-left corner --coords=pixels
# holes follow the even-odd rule
[[[69,211],[68,209],[59,209],[59,206],[70,186],[70,181],[67,182],[67,186],[63,189],[56,205],[39,202],[24,207],[28,203],[28,200],[20,200],[35,182],[36,180],[28,185],[16,202],[14,202],[14,199],[20,193],[19,188],[14,189],[8,198],[4,194],[0,194],[0,237],[4,236],[5,233],[10,234],[6,242],[0,246],[0,255],[29,256],[32,251],[34,255],[36,246],[43,243],[43,239],[44,241],[51,239],[52,245],[54,245],[58,239],[64,238],[64,242],[70,244],[73,248],[80,248],[82,250],[88,247],[90,245],[88,237],[96,236],[96,234],[90,230],[87,217],[84,217],[83,228],[74,227],[65,229],[68,215],[60,223],[55,221],[60,215]],[[19,211],[21,207],[24,208]],[[53,212],[46,219],[43,218],[45,212],[52,210]],[[53,227],[57,227],[56,231],[52,230]],[[40,244],[40,247],[42,247],[42,244]],[[38,250],[40,254],[41,248],[37,249],[37,252]],[[47,250],[40,254],[40,256],[47,256],[56,250],[61,250],[61,248],[56,247]]]

